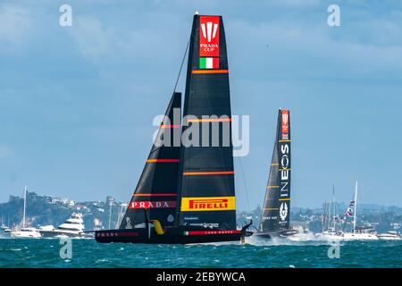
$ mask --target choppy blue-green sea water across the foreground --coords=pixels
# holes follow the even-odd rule
[[[61,258],[57,239],[0,239],[0,267],[402,267],[402,241],[350,241],[339,258],[326,242],[249,241],[245,245],[99,244],[71,240]]]

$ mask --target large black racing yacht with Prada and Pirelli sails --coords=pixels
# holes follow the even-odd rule
[[[247,231],[251,223],[241,230],[236,225],[231,134],[229,144],[217,147],[180,140],[192,124],[222,129],[227,124],[231,130],[221,16],[194,16],[182,120],[180,107],[181,94],[174,92],[156,136],[171,144],[154,143],[120,228],[95,231],[96,241],[186,244],[240,241],[252,235]],[[198,132],[199,142],[211,143],[213,128],[207,130]],[[223,140],[219,132],[219,142]]]

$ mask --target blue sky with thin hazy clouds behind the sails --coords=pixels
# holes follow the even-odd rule
[[[2,1],[0,202],[24,185],[128,201],[196,11],[222,14],[232,114],[250,116],[239,209],[263,203],[280,107],[291,113],[292,206],[321,206],[332,184],[346,202],[356,180],[358,203],[402,206],[402,4],[381,0]]]

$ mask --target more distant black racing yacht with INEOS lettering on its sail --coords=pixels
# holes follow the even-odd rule
[[[298,232],[289,228],[290,141],[290,113],[287,109],[280,109],[264,206],[255,233],[258,237],[286,238]]]

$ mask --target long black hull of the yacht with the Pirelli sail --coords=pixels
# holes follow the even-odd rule
[[[151,230],[149,236],[147,229],[108,230],[95,231],[95,240],[100,243],[130,242],[147,244],[189,244],[209,243],[223,241],[239,241],[244,236],[250,236],[253,232],[246,231],[183,231],[171,230],[158,235]]]

